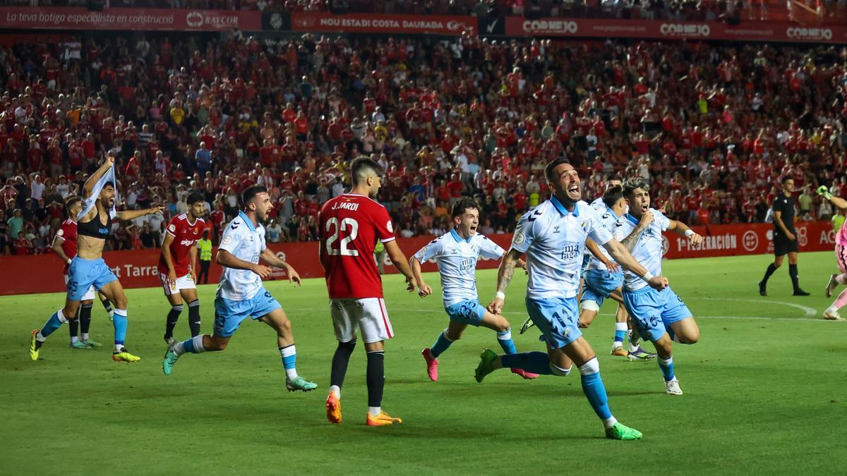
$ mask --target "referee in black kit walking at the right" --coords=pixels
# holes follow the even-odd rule
[[[797,201],[794,199],[794,179],[783,177],[783,192],[779,194],[772,205],[773,210],[773,263],[767,265],[765,277],[759,281],[759,294],[767,296],[767,280],[774,271],[783,265],[785,255],[789,255],[789,275],[794,285],[794,296],[809,296],[800,289],[797,277],[797,233],[794,231],[794,209]]]

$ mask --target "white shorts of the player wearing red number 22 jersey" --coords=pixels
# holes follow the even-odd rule
[[[330,299],[329,309],[335,339],[339,342],[355,340],[357,329],[362,329],[362,340],[367,344],[394,337],[385,301],[381,297]]]

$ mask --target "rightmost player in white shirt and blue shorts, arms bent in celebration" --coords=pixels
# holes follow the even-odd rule
[[[630,179],[623,184],[623,197],[629,212],[618,220],[615,237],[632,252],[650,274],[662,275],[662,231],[673,230],[687,237],[691,246],[699,246],[703,237],[677,220],[667,219],[650,208],[650,186],[645,180]],[[662,369],[668,395],[682,395],[673,372],[673,341],[695,344],[700,340],[689,308],[673,290],[656,291],[645,287],[637,275],[624,273],[623,303],[642,337],[656,346],[656,361]]]

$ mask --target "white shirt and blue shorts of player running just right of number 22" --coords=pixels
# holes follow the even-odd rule
[[[450,320],[479,326],[485,308],[479,304],[476,289],[476,264],[483,259],[500,259],[506,251],[484,235],[467,239],[456,230],[439,236],[421,248],[414,257],[421,263],[434,261],[441,275],[444,308]]]

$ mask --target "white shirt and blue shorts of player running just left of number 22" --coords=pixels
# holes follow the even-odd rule
[[[265,249],[264,227],[253,226],[244,212],[226,226],[219,250],[232,253],[248,263],[259,263]],[[224,267],[214,300],[214,335],[230,337],[248,317],[254,320],[281,307],[271,296],[262,278],[249,269]]]

